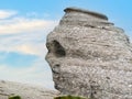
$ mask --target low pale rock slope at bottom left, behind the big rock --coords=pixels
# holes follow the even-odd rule
[[[9,96],[21,96],[22,99],[54,99],[59,92],[41,87],[0,80],[0,99]]]

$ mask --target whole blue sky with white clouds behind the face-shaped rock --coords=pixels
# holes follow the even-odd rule
[[[0,79],[54,89],[46,35],[67,7],[106,14],[132,38],[131,0],[0,0]]]

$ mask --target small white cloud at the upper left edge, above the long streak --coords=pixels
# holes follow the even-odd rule
[[[10,11],[10,10],[0,10],[0,19],[7,19],[12,15],[16,14],[15,11]]]

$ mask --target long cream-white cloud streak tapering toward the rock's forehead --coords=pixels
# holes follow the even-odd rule
[[[31,33],[40,30],[50,30],[55,23],[55,21],[16,18],[6,21],[4,24],[0,24],[0,34]]]

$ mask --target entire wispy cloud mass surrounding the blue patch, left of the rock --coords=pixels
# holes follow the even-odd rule
[[[37,61],[35,59],[28,67],[24,63],[23,66],[18,67],[0,64],[0,79],[53,88],[51,69],[44,56],[47,52],[46,35],[57,24],[57,21],[38,18],[38,13],[20,15],[16,11],[0,11],[0,52],[37,56]],[[0,59],[3,57],[4,55]]]

